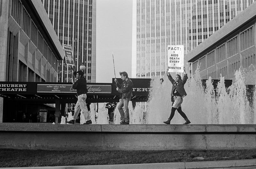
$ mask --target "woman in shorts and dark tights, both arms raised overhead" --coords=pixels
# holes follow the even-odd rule
[[[170,124],[171,120],[174,116],[174,113],[177,110],[180,113],[180,115],[185,119],[186,122],[184,124],[190,124],[191,122],[188,120],[188,117],[181,110],[181,103],[183,102],[183,97],[185,97],[187,95],[187,93],[184,89],[184,85],[187,82],[188,74],[185,71],[185,67],[183,67],[183,70],[184,70],[183,80],[181,80],[180,75],[176,75],[175,79],[173,79],[170,72],[168,72],[168,70],[169,69],[167,68],[167,77],[172,83],[172,97],[171,97],[172,110],[171,110],[170,117],[168,118],[167,121],[164,121],[164,123]]]

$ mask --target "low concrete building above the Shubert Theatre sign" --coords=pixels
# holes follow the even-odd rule
[[[43,5],[37,0],[1,0],[0,5],[0,81],[57,82],[64,51]]]

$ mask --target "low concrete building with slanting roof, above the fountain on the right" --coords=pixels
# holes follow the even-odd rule
[[[200,75],[219,79],[234,79],[234,72],[240,67],[256,67],[256,2],[239,13],[185,57],[192,62],[192,73],[197,64]],[[246,84],[255,83],[255,79]]]

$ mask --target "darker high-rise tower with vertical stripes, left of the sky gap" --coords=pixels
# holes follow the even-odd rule
[[[72,46],[76,70],[84,64],[87,82],[96,82],[96,1],[42,0],[42,3],[60,43]],[[71,82],[71,70],[65,61],[59,62],[58,70],[59,82]]]

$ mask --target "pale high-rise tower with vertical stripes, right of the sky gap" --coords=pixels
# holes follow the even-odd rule
[[[163,76],[167,45],[184,45],[186,55],[254,1],[134,0],[133,77]]]

